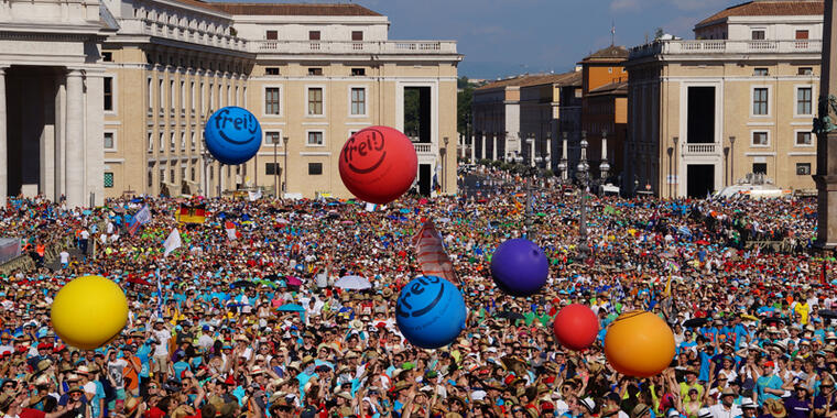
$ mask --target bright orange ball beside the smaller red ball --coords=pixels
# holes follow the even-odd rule
[[[608,327],[605,355],[621,374],[654,376],[668,367],[674,359],[674,333],[654,314],[626,312]]]

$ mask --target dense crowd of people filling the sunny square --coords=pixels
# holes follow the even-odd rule
[[[520,185],[519,179],[510,184]],[[522,190],[518,190],[522,191]],[[178,224],[181,205],[206,205]],[[830,254],[811,251],[812,199],[590,197],[537,188],[480,199],[117,199],[75,210],[14,199],[4,235],[32,248],[69,239],[50,263],[0,282],[0,411],[11,418],[837,416],[837,293]],[[135,233],[131,215],[152,220]],[[423,350],[399,332],[395,300],[421,275],[413,237],[432,220],[468,307],[450,345]],[[226,222],[236,226],[230,234]],[[177,228],[183,246],[164,255]],[[492,282],[493,250],[540,244],[550,279],[532,297]],[[787,251],[751,246],[784,241]],[[128,324],[107,345],[65,345],[50,304],[74,277],[118,283]],[[335,283],[360,276],[369,289]],[[561,346],[565,305],[598,316],[597,342]],[[676,355],[657,376],[617,373],[602,343],[620,314],[672,328]]]

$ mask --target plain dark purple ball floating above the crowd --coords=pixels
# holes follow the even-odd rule
[[[537,244],[523,239],[507,240],[491,256],[491,276],[500,289],[512,296],[541,290],[550,275],[550,262]]]

